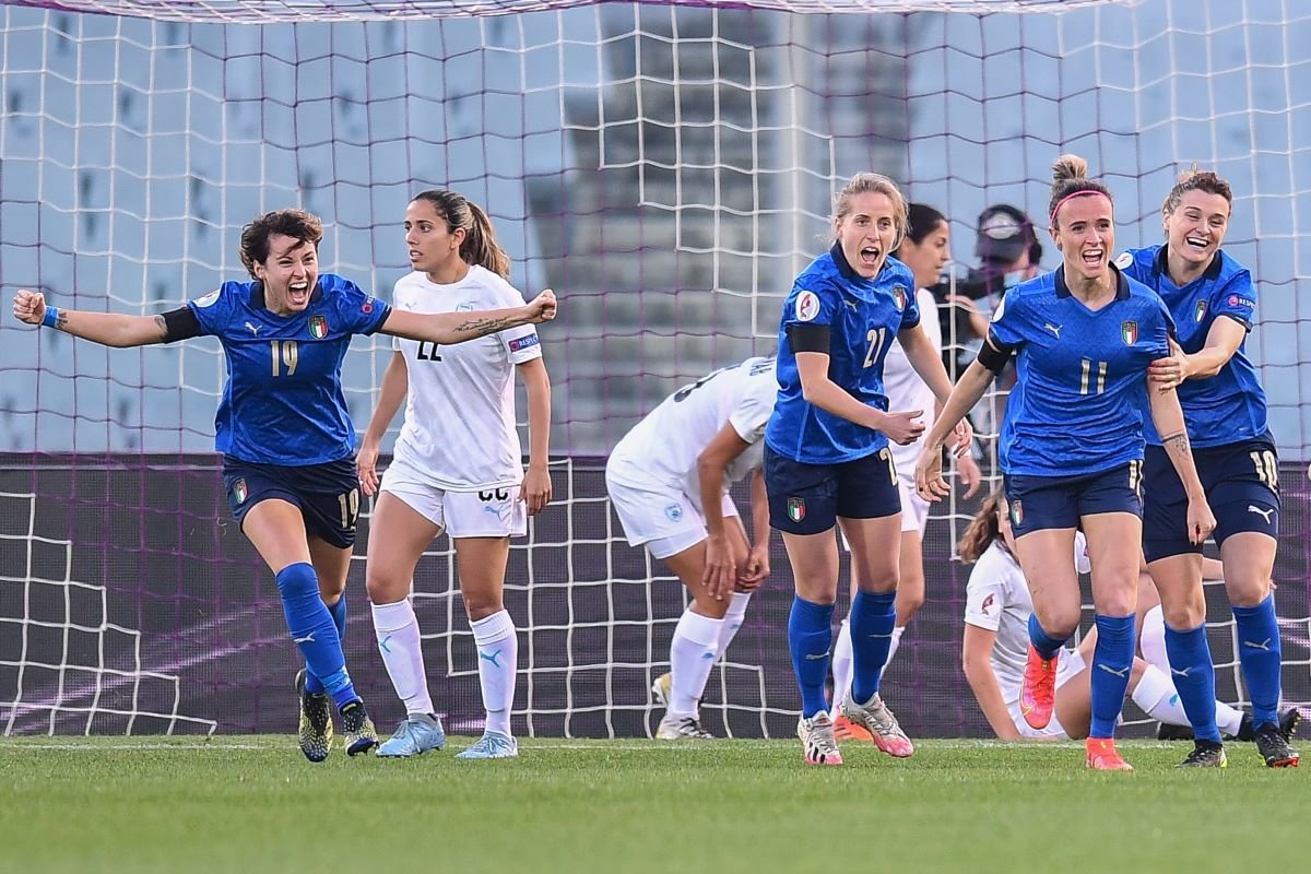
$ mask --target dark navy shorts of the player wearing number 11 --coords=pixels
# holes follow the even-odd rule
[[[1139,494],[1142,461],[1078,477],[1006,474],[1003,487],[1011,504],[1016,537],[1047,528],[1078,528],[1084,516],[1100,512],[1143,515]]]

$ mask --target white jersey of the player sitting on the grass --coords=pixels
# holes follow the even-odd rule
[[[1075,565],[1086,574],[1088,565],[1088,544],[1082,533],[1075,533]],[[992,645],[992,672],[1002,688],[1002,700],[1007,706],[1020,700],[1020,684],[1024,680],[1024,663],[1029,655],[1029,615],[1033,613],[1033,599],[1024,580],[1020,562],[1011,556],[1000,540],[983,550],[970,582],[965,587],[965,622],[996,632]],[[1057,668],[1059,687],[1075,670],[1072,663],[1062,658]]]

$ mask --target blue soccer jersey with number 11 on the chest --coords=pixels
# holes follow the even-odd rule
[[[1156,292],[1116,275],[1093,312],[1070,294],[1065,267],[1006,292],[988,330],[1017,351],[1019,380],[1002,423],[1002,470],[1074,477],[1143,457],[1147,366],[1169,354],[1173,325]]]

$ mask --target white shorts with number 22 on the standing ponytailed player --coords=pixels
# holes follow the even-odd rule
[[[392,464],[379,491],[400,498],[448,537],[522,537],[528,532],[528,506],[519,501],[519,486],[448,491],[404,464]]]

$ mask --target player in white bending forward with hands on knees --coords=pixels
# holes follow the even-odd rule
[[[779,385],[772,358],[749,358],[680,388],[624,435],[606,487],[628,542],[645,545],[687,586],[692,603],[674,629],[670,672],[653,691],[666,705],[656,736],[712,738],[699,702],[711,668],[770,575],[770,515],[760,438]],[[726,486],[751,474],[749,545]]]

